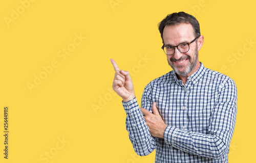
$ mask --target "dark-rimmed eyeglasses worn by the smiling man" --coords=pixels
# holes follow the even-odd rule
[[[199,36],[200,37],[200,36]],[[189,50],[189,44],[193,43],[194,41],[196,41],[196,39],[198,39],[199,37],[196,37],[193,41],[188,42],[188,43],[181,43],[177,46],[172,46],[172,45],[165,45],[163,44],[163,46],[161,47],[164,51],[164,53],[166,55],[173,55],[175,53],[175,47],[177,47],[177,49],[182,52],[185,53]]]

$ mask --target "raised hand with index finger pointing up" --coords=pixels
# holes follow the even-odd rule
[[[116,73],[112,85],[113,90],[123,99],[124,102],[135,98],[132,78],[128,71],[120,70],[116,62],[110,59]]]

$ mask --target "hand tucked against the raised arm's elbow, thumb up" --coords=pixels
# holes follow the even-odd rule
[[[150,133],[153,137],[163,138],[163,133],[167,125],[164,123],[162,117],[160,116],[156,102],[152,105],[153,114],[145,110],[145,108],[140,108],[146,120],[146,125],[150,128]]]

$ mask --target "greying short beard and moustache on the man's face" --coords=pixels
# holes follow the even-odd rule
[[[184,67],[184,65],[178,65],[178,66],[174,66],[173,62],[175,61],[182,61],[184,59],[188,59],[189,63],[186,67]],[[197,65],[197,60],[198,60],[198,50],[196,48],[195,53],[193,54],[193,59],[191,60],[190,56],[182,56],[180,59],[176,60],[175,58],[170,58],[170,60],[168,61],[168,64],[170,65],[170,67],[173,68],[174,72],[176,72],[178,75],[182,75],[182,76],[186,76],[188,73],[190,73],[191,71],[193,71]],[[184,68],[183,71],[179,70],[179,68]]]

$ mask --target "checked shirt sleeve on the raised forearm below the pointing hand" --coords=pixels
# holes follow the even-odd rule
[[[128,102],[122,101],[122,104],[127,115],[126,129],[135,152],[140,156],[150,154],[155,150],[157,140],[151,136],[136,97]]]

